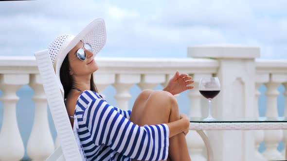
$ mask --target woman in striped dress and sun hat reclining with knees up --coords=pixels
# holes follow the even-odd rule
[[[106,42],[105,23],[95,19],[77,36],[61,35],[48,47],[71,125],[87,161],[190,161],[189,120],[173,95],[192,89],[186,74],[162,91],[144,90],[132,111],[111,106],[98,94],[94,56]]]

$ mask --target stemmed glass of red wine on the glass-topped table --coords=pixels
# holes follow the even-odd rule
[[[211,115],[211,99],[214,98],[220,92],[220,82],[217,77],[210,78],[200,78],[199,81],[199,92],[202,96],[208,99],[209,102],[209,112],[208,117],[203,119],[203,121],[213,121],[216,120]]]

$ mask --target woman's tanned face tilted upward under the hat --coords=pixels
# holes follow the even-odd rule
[[[83,48],[86,53],[86,60],[84,61],[77,57],[76,52],[79,48]],[[98,65],[94,61],[94,54],[84,48],[84,43],[81,41],[69,52],[68,59],[70,62],[70,74],[74,76],[88,75],[98,70]]]

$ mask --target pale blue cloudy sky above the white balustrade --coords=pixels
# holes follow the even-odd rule
[[[100,57],[186,58],[187,47],[243,45],[287,59],[287,0],[0,1],[0,56],[33,56],[58,35],[106,22]]]

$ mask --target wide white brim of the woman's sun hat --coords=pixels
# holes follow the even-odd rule
[[[89,43],[93,48],[93,53],[97,54],[106,44],[107,35],[106,35],[106,27],[105,21],[101,18],[95,19],[90,22],[79,34],[77,34],[72,41],[67,45],[66,48],[61,50],[58,53],[56,67],[55,67],[55,74],[60,86],[61,92],[64,94],[64,88],[60,80],[60,68],[61,65],[70,52],[72,48],[74,48],[79,41],[83,41],[84,43]],[[64,96],[64,95],[63,95]]]

